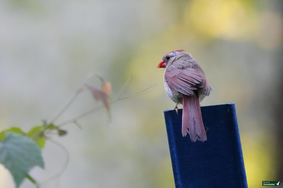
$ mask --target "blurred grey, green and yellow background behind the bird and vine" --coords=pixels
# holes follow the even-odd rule
[[[53,139],[69,151],[64,174],[48,187],[174,187],[163,110],[164,69],[172,50],[191,53],[213,92],[202,106],[235,102],[250,188],[283,180],[283,1],[145,0],[0,2],[0,130],[28,131],[50,119],[89,72],[110,81],[113,96],[157,86],[84,118],[82,130]],[[89,83],[100,87],[92,78]],[[82,93],[59,120],[97,102]],[[179,106],[181,108],[181,105]],[[31,175],[42,182],[58,173],[65,154],[47,142],[46,168]],[[25,180],[21,187],[33,187]],[[0,165],[0,187],[14,188]]]

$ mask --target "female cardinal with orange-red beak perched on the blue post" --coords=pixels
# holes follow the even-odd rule
[[[165,68],[164,88],[167,96],[183,105],[182,135],[189,133],[191,141],[206,141],[206,131],[200,109],[200,102],[212,91],[203,70],[191,54],[175,50],[165,54],[157,68]]]

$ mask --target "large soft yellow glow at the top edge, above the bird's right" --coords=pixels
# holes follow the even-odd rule
[[[255,11],[238,0],[193,0],[186,6],[184,21],[208,38],[247,38],[256,28]]]

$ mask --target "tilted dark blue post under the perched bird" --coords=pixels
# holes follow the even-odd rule
[[[182,137],[182,109],[164,117],[176,188],[247,188],[235,103],[201,107],[207,141]]]

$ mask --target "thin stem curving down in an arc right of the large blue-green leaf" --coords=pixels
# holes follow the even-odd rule
[[[64,162],[62,169],[57,174],[55,174],[55,175],[51,176],[50,178],[48,178],[47,180],[44,180],[43,182],[41,182],[40,185],[47,184],[50,181],[55,180],[56,178],[60,177],[64,173],[64,171],[66,170],[66,168],[69,164],[69,152],[68,152],[68,150],[62,144],[53,140],[52,138],[47,137],[46,139],[49,142],[52,142],[53,144],[57,145],[62,151],[64,151],[65,154],[66,154],[66,159],[65,159],[65,162]]]

